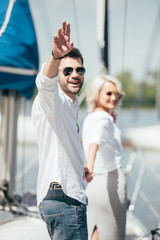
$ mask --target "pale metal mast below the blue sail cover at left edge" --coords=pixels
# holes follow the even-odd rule
[[[15,190],[16,149],[17,149],[17,120],[20,96],[15,90],[2,92],[1,108],[1,179],[8,186],[8,195],[12,196]]]

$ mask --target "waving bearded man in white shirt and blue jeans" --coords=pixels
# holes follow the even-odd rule
[[[51,239],[87,240],[84,169],[76,94],[84,81],[83,57],[65,21],[42,66],[32,118],[39,147],[37,200]],[[57,76],[58,75],[58,76]],[[87,181],[92,178],[88,169]]]

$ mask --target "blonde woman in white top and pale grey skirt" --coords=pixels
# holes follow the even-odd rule
[[[87,95],[91,113],[83,123],[82,141],[88,179],[89,240],[124,240],[126,225],[126,183],[121,169],[121,134],[115,108],[124,96],[120,82],[109,76],[97,77]]]

